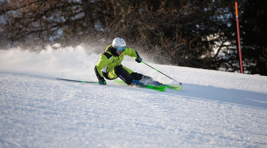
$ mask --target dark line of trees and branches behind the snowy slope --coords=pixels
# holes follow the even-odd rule
[[[0,49],[116,37],[161,64],[240,72],[233,0],[2,0]],[[267,75],[267,1],[238,2],[244,72]]]

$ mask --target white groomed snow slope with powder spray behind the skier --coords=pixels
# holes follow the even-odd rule
[[[266,76],[143,57],[182,91],[55,79],[97,81],[99,56],[81,46],[0,50],[0,147],[267,147]],[[131,57],[122,64],[177,84]]]

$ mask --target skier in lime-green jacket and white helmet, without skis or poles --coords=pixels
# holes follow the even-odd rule
[[[95,73],[99,84],[107,84],[104,77],[113,80],[119,77],[128,85],[141,85],[142,82],[150,82],[151,85],[162,85],[158,81],[154,81],[151,77],[141,73],[133,72],[131,69],[121,65],[124,55],[135,58],[137,63],[141,63],[142,58],[137,51],[126,47],[126,43],[122,38],[115,38],[112,45],[106,47],[100,55],[100,59],[95,66]]]

